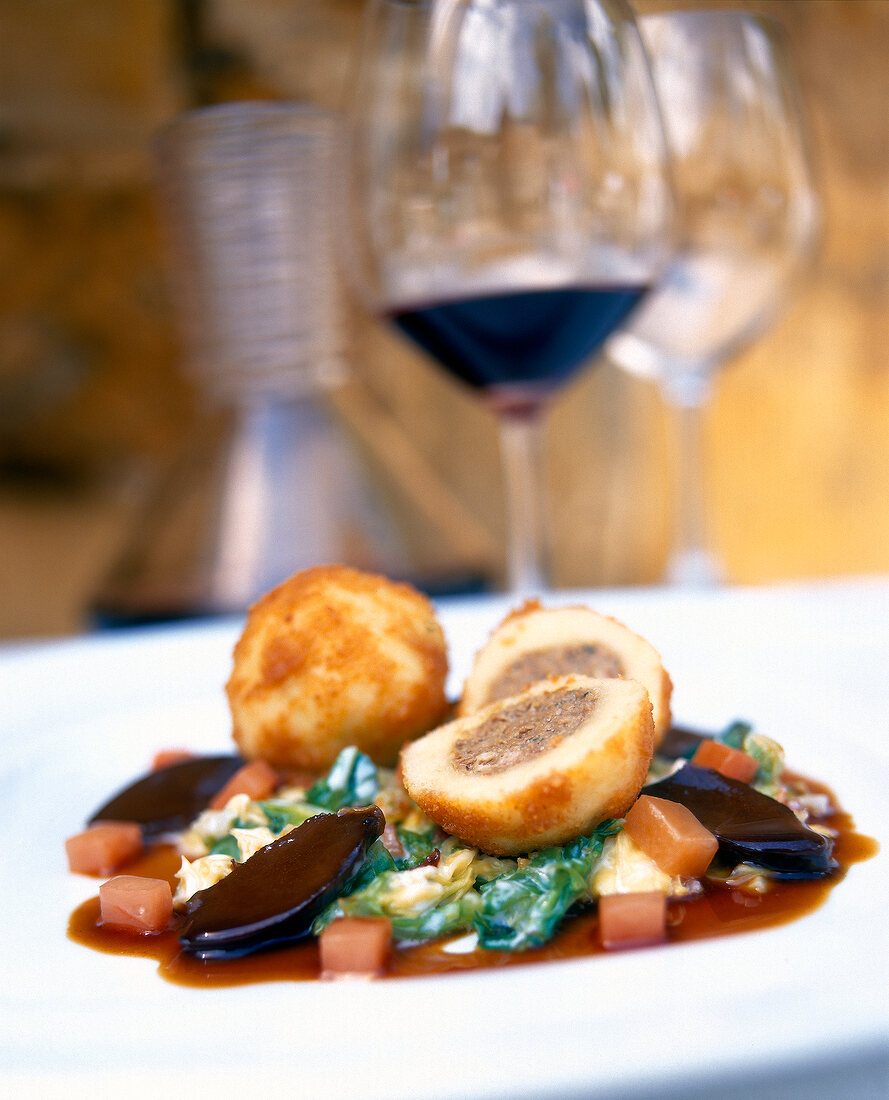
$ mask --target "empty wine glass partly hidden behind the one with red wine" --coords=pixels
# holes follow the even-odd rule
[[[739,11],[639,20],[671,151],[681,239],[625,331],[618,366],[654,380],[672,413],[677,470],[667,578],[713,584],[705,536],[702,417],[714,373],[786,307],[815,251],[819,204],[786,48]]]

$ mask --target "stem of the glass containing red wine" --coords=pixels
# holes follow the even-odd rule
[[[542,416],[539,411],[502,413],[498,421],[506,503],[506,583],[513,595],[528,596],[546,587]]]

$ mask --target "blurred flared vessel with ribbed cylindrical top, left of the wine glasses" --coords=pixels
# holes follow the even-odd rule
[[[242,610],[325,561],[406,571],[325,394],[347,376],[341,123],[290,102],[186,112],[157,143],[187,370],[207,421],[96,600],[101,622]]]

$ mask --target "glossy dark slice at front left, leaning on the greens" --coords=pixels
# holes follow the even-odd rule
[[[216,958],[300,939],[361,868],[384,825],[377,806],[310,817],[198,891],[179,942],[199,958]]]

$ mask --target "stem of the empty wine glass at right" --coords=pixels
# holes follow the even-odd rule
[[[704,485],[703,411],[711,385],[705,377],[685,378],[666,385],[663,392],[676,442],[673,535],[667,580],[672,584],[717,584],[722,571],[707,544]]]

